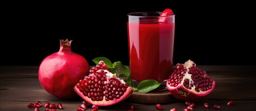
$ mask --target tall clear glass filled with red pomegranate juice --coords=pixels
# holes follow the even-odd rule
[[[157,80],[157,91],[165,91],[173,69],[175,15],[161,12],[127,14],[131,86],[143,80]]]

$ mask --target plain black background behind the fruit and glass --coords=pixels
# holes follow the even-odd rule
[[[2,4],[0,65],[40,65],[66,38],[90,65],[99,56],[129,65],[126,14],[166,8],[176,15],[174,64],[255,65],[253,3],[97,2]]]

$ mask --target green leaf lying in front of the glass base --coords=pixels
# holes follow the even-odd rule
[[[147,93],[160,86],[160,83],[156,80],[143,80],[138,84],[138,92]]]

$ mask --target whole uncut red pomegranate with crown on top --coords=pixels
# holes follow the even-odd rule
[[[61,99],[76,97],[73,87],[90,71],[87,60],[71,51],[71,42],[60,40],[60,50],[44,58],[38,71],[42,87]]]

